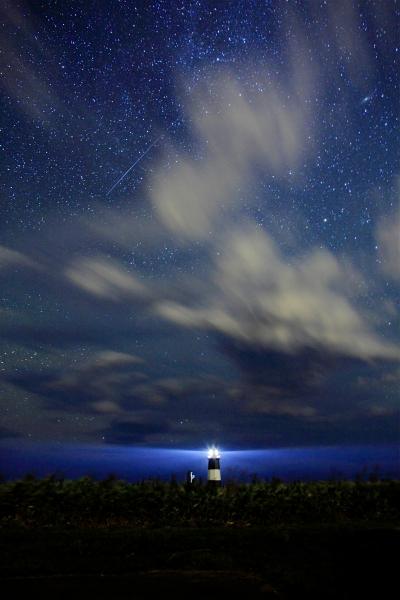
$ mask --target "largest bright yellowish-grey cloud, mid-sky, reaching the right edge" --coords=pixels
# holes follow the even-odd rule
[[[260,228],[231,233],[200,306],[160,302],[158,314],[248,345],[297,353],[304,348],[362,359],[399,359],[356,308],[349,271],[327,250],[283,257]]]

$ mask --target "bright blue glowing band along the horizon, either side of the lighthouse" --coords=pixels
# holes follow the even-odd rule
[[[377,471],[382,477],[400,477],[397,445],[319,446],[269,450],[221,450],[222,478],[249,480],[273,476],[283,480],[354,478]],[[172,450],[93,444],[3,442],[0,473],[6,479],[32,473],[66,478],[113,473],[127,481],[144,478],[184,479],[188,470],[207,478],[207,448]]]

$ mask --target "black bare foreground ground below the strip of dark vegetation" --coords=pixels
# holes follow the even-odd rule
[[[400,527],[5,528],[4,598],[397,598]]]

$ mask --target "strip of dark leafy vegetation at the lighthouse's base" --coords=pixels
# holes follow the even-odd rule
[[[400,481],[126,483],[56,476],[0,484],[0,525],[244,526],[400,521]]]

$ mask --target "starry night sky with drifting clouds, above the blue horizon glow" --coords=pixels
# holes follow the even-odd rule
[[[1,3],[8,471],[396,448],[399,30],[395,0]]]

